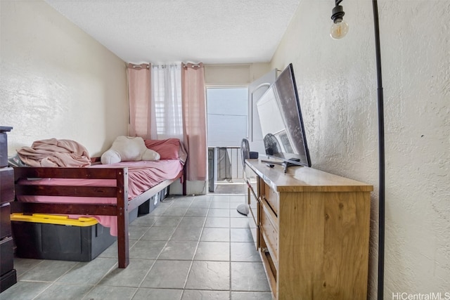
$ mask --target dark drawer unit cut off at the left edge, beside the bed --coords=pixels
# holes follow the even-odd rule
[[[0,126],[0,292],[17,282],[9,205],[9,202],[14,201],[14,170],[8,168],[7,132],[11,129]]]

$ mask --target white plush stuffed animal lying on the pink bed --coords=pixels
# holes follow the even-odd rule
[[[102,164],[159,159],[160,154],[154,150],[148,149],[143,138],[139,136],[117,136],[111,148],[101,155]]]

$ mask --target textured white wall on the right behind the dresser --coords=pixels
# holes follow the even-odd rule
[[[373,184],[369,299],[376,299],[378,121],[371,1],[303,0],[272,60],[293,63],[313,167]],[[450,2],[379,1],[385,97],[385,299],[450,292]],[[442,294],[444,296],[444,294]]]

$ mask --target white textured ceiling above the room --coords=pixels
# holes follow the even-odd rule
[[[266,63],[301,0],[45,0],[127,63]]]

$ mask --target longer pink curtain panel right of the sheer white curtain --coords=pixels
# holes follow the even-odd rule
[[[203,64],[181,67],[184,146],[188,152],[187,180],[207,180],[205,74]]]

